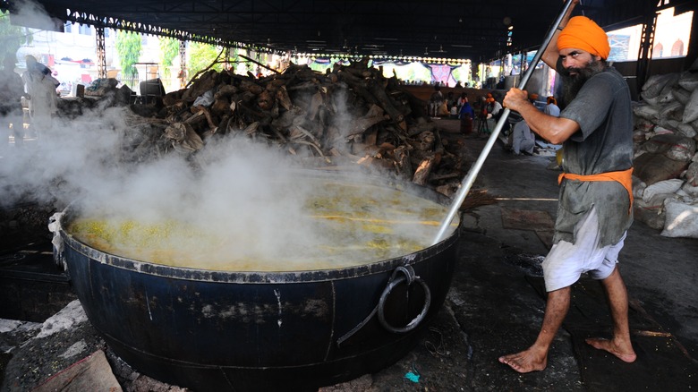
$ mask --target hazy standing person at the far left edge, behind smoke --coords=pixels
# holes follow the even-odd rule
[[[24,122],[22,121],[21,96],[24,84],[17,72],[14,72],[14,55],[6,55],[3,70],[0,71],[0,149],[6,149],[9,143],[10,129],[14,137],[14,147],[19,148],[24,141]]]

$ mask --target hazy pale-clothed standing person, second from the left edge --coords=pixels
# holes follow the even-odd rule
[[[37,137],[40,132],[51,128],[53,116],[58,112],[55,88],[60,84],[51,76],[51,70],[38,63],[32,55],[25,57],[27,71],[21,75],[30,101],[30,123]]]

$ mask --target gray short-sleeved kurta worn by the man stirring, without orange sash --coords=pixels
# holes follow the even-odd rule
[[[564,72],[564,71],[563,71]],[[633,166],[633,115],[630,90],[613,68],[586,81],[576,98],[560,113],[580,126],[563,144],[563,171],[596,175]],[[595,206],[599,214],[600,246],[617,243],[633,223],[626,189],[615,181],[563,180],[554,243],[575,243],[574,229]]]

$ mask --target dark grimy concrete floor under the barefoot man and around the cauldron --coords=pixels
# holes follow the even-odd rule
[[[463,138],[456,121],[437,121],[445,139],[464,142],[472,161],[478,157],[487,135]],[[619,267],[631,300],[636,362],[620,362],[583,343],[585,337],[609,337],[611,332],[599,285],[586,277],[573,286],[572,308],[550,351],[548,369],[521,375],[498,362],[498,356],[530,345],[541,325],[545,294],[540,261],[549,249],[558,196],[559,172],[549,169],[550,162],[548,157],[514,156],[495,144],[471,197],[487,192],[496,202],[464,212],[460,260],[438,318],[395,365],[323,392],[664,392],[698,387],[698,241],[662,237],[641,222],[627,235]],[[0,345],[12,352],[2,391],[38,385],[42,374],[27,374],[23,363],[39,356],[38,373],[47,364],[60,370],[105,348],[84,320],[43,340],[36,337],[37,328],[40,324],[0,326]],[[66,350],[80,342],[83,354],[65,359]],[[110,359],[115,373],[123,373],[123,364]],[[138,381],[138,375],[128,377],[129,390],[177,390],[155,388],[143,378]]]

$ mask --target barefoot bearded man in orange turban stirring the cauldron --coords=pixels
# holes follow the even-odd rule
[[[633,117],[623,76],[606,63],[606,33],[583,16],[563,16],[542,55],[564,80],[566,107],[559,117],[545,115],[526,91],[511,89],[505,107],[524,116],[533,132],[563,144],[563,171],[554,245],[543,261],[548,299],[536,341],[521,353],[499,358],[515,371],[542,371],[550,345],[570,306],[570,286],[583,273],[605,288],[613,319],[613,337],[586,343],[634,362],[628,328],[626,285],[617,268],[632,215]],[[561,31],[559,31],[561,30]]]

